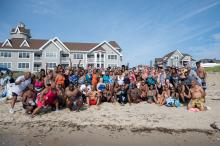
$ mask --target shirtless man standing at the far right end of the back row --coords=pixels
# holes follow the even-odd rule
[[[198,75],[198,77],[201,79],[201,84],[202,84],[202,88],[203,90],[206,89],[206,72],[205,72],[205,69],[201,66],[201,62],[196,62],[196,73]]]

